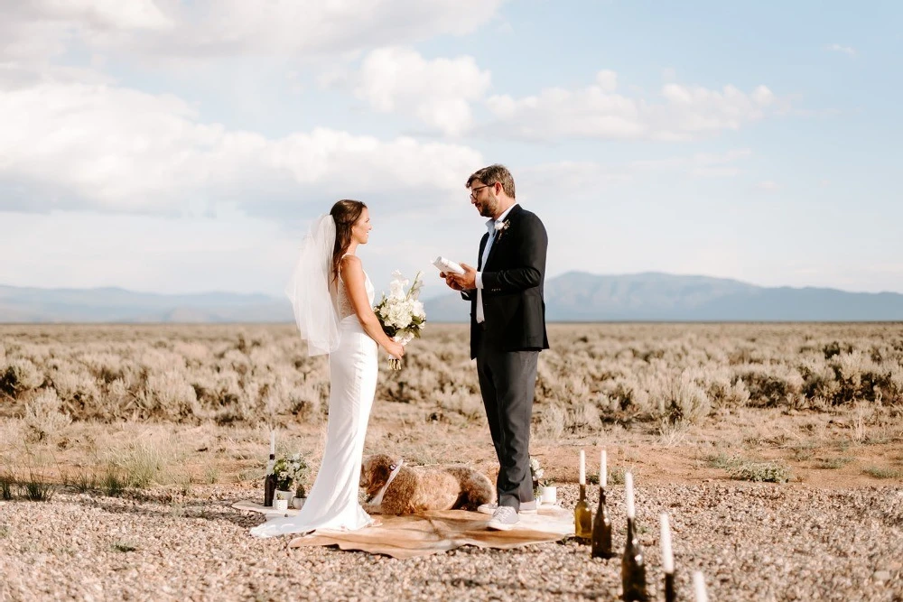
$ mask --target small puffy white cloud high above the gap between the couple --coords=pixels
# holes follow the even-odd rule
[[[425,60],[414,50],[389,47],[371,51],[348,80],[355,96],[379,112],[412,113],[459,135],[470,128],[470,103],[485,95],[491,76],[473,57]]]

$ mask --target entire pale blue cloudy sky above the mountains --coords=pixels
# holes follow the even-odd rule
[[[548,277],[903,292],[891,2],[0,5],[0,283],[281,294],[370,207],[377,285],[474,263],[503,162]]]

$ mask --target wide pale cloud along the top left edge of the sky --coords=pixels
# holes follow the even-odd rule
[[[504,0],[29,0],[3,3],[6,59],[91,49],[203,60],[272,54],[311,59],[473,32]]]

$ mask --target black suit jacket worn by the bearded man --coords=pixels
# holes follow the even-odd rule
[[[545,332],[545,255],[549,238],[534,213],[520,205],[508,212],[506,229],[496,232],[486,265],[479,241],[477,271],[483,279],[482,326],[477,325],[477,291],[461,292],[470,301],[470,358],[477,357],[481,337],[492,338],[503,351],[549,348]],[[485,327],[485,328],[483,328]]]

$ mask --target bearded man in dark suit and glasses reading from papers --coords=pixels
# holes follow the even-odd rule
[[[530,418],[536,361],[549,348],[545,333],[543,222],[517,204],[514,178],[502,165],[489,165],[467,179],[470,203],[489,218],[479,241],[477,267],[461,264],[462,275],[442,273],[445,282],[470,301],[470,358],[477,359],[479,392],[498,457],[498,505],[489,529],[507,531],[518,512],[536,511],[530,474]]]

